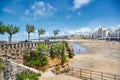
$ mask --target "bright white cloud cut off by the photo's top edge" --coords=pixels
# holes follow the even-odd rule
[[[91,0],[73,0],[73,9],[79,9],[90,3]]]

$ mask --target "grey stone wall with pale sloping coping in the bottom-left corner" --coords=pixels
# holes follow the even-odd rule
[[[3,69],[1,72],[0,80],[16,80],[16,74],[21,73],[23,71],[39,73],[39,71],[36,69],[29,68],[22,64],[18,64],[13,61],[3,59]],[[2,77],[3,77],[3,79],[2,79]]]

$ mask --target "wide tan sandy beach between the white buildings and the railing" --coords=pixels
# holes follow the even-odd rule
[[[76,55],[71,60],[71,66],[120,75],[120,42],[100,40],[75,42],[88,51]]]

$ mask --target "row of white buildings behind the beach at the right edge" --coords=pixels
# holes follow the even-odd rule
[[[97,31],[92,33],[91,37],[102,40],[120,41],[120,28],[112,30],[110,28],[100,27]]]

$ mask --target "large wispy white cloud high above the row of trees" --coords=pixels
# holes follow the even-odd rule
[[[56,8],[54,8],[51,4],[43,1],[35,2],[33,5],[31,5],[30,9],[25,10],[25,14],[31,14],[34,19],[50,16],[55,12]]]

